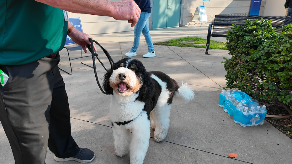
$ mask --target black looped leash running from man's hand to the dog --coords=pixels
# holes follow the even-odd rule
[[[103,51],[104,51],[104,54],[106,55],[106,57],[109,59],[109,64],[110,64],[110,67],[113,68],[114,66],[114,60],[112,59],[112,57],[109,55],[109,52],[104,49],[103,46],[101,46],[97,41],[95,40],[92,40],[91,38],[89,38],[89,41],[90,41],[90,44],[93,45],[93,42],[96,43]],[[93,61],[93,70],[94,70],[94,75],[95,75],[95,79],[96,79],[96,82],[98,84],[98,87],[99,89],[101,90],[102,93],[104,94],[109,94],[109,93],[106,93],[103,88],[101,87],[99,81],[98,81],[98,77],[97,77],[97,72],[96,72],[96,66],[95,66],[95,57],[97,58],[97,60],[99,61],[99,63],[104,67],[105,71],[109,72],[109,70],[104,66],[104,64],[100,61],[100,59],[98,58],[98,53],[94,51],[93,49],[93,46],[90,46],[87,44],[87,48],[88,50],[91,52],[91,55],[92,55],[92,61]]]

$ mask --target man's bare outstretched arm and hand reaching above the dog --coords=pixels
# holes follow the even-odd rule
[[[131,27],[138,22],[141,10],[133,0],[111,2],[109,0],[35,0],[72,13],[109,16],[116,20],[128,20]]]

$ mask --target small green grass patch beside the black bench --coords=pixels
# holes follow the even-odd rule
[[[200,37],[183,37],[179,39],[172,39],[166,42],[154,43],[154,45],[168,45],[177,47],[196,47],[196,48],[206,48],[207,40]],[[222,49],[226,50],[226,42],[219,42],[215,40],[210,41],[210,49]],[[196,45],[202,44],[202,45]]]

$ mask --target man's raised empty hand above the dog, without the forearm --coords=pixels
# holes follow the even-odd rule
[[[134,27],[139,18],[141,10],[133,0],[121,0],[114,3],[115,13],[112,17],[116,20],[128,20],[131,27]]]

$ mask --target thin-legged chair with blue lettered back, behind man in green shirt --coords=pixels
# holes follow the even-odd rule
[[[83,32],[83,31],[82,31],[82,26],[81,26],[80,18],[69,18],[69,21],[74,25],[74,27],[75,27],[77,30]],[[75,45],[73,45],[73,44],[75,44]],[[70,45],[70,46],[68,46],[68,45]],[[83,57],[89,57],[89,56],[83,56],[83,57],[82,57],[82,47],[81,47],[80,45],[77,45],[75,42],[73,42],[73,40],[71,40],[71,38],[70,38],[68,35],[67,35],[67,38],[66,38],[66,42],[65,42],[65,46],[64,46],[64,48],[66,48],[66,50],[67,50],[67,53],[66,53],[66,54],[68,54],[71,73],[69,73],[69,72],[67,72],[67,71],[65,71],[65,70],[63,70],[63,69],[61,69],[61,68],[59,68],[60,70],[62,70],[62,71],[64,71],[64,72],[68,73],[69,75],[72,75],[73,72],[72,72],[71,61],[72,61],[72,60],[75,60],[75,59],[79,59],[79,58],[80,58],[80,62],[81,62],[81,64],[84,64],[84,65],[86,65],[86,66],[89,66],[89,65],[87,65],[87,64],[85,64],[85,63],[82,63],[82,58],[83,58]],[[74,58],[74,59],[70,59],[69,51],[76,51],[76,50],[80,50],[80,57],[77,57],[77,58]],[[65,55],[66,55],[66,54],[65,54]],[[64,55],[64,56],[65,56],[65,55]],[[92,66],[89,66],[89,67],[93,68]]]

